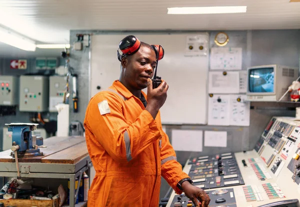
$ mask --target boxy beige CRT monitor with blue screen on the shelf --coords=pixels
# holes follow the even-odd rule
[[[298,77],[298,68],[278,64],[247,68],[247,100],[278,101]],[[289,100],[285,95],[282,100]]]

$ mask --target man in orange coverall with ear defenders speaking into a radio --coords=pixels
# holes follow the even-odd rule
[[[86,143],[96,171],[87,206],[157,207],[161,175],[195,206],[208,206],[210,198],[182,171],[162,130],[159,108],[168,85],[162,80],[153,89],[150,79],[162,47],[128,35],[119,49],[119,79],[94,95],[86,109]],[[147,95],[141,91],[146,87]]]

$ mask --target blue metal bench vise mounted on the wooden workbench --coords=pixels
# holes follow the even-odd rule
[[[12,131],[12,152],[10,156],[26,158],[33,156],[42,156],[43,153],[38,147],[43,144],[42,137],[36,137],[31,134],[32,130],[36,129],[37,123],[5,123],[8,126],[8,131]]]

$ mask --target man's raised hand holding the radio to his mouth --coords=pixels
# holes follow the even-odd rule
[[[160,85],[157,88],[152,89],[152,80],[148,78],[147,86],[147,106],[146,110],[155,119],[159,108],[164,104],[166,99],[166,91],[168,89],[168,84],[164,80],[161,80]]]

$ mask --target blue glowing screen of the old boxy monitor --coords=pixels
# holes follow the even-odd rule
[[[274,92],[274,68],[249,69],[249,92]]]

